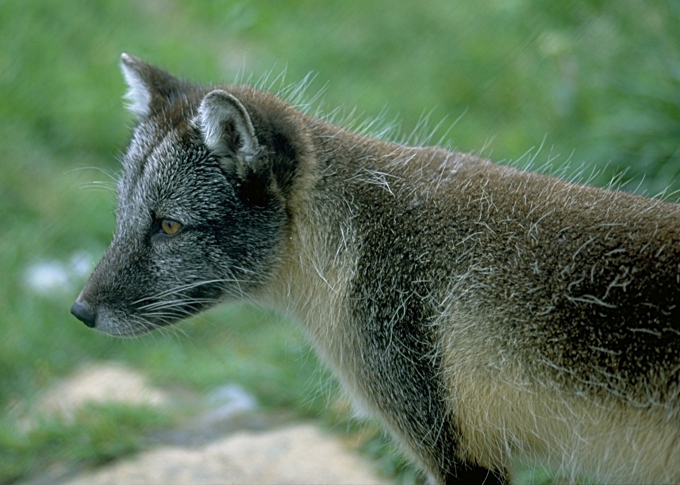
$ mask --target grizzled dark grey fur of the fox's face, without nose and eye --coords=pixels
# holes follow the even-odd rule
[[[133,58],[123,62],[128,79],[140,77],[137,88],[153,84],[141,76],[159,77]],[[190,90],[169,76],[165,85]],[[219,103],[213,95],[210,104],[202,94],[194,89],[193,103],[173,90],[137,95],[161,106],[157,112],[133,107],[148,116],[124,156],[116,234],[79,297],[96,308],[97,330],[136,335],[219,301],[252,295],[277,258],[287,216],[266,186],[267,154],[252,153],[256,138],[244,111],[214,120],[225,146],[209,150],[205,118]],[[199,110],[203,120],[196,116]],[[250,131],[239,133],[244,119]],[[248,146],[242,146],[244,134],[251,137]],[[230,140],[237,143],[226,146]],[[253,161],[255,156],[260,159]],[[235,172],[239,175],[232,176]],[[180,222],[180,232],[163,233],[164,218]]]

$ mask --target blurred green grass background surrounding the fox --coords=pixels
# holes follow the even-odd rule
[[[34,263],[82,250],[96,260],[111,238],[114,195],[80,187],[109,180],[88,167],[115,173],[129,135],[121,52],[200,82],[312,71],[323,110],[386,111],[405,133],[424,114],[432,126],[447,117],[433,139],[459,150],[509,162],[543,144],[537,165],[559,154],[556,165],[599,169],[595,184],[628,169],[629,186],[656,194],[678,188],[678,25],[665,0],[1,2],[0,409],[82,363],[117,359],[157,384],[236,382],[268,407],[333,414],[333,382],[271,312],[223,307],[182,324],[187,335],[118,341],[69,315],[78,278],[50,295],[26,284]],[[24,458],[59,458],[39,437],[21,442],[32,443],[17,448]],[[31,463],[0,467],[0,482],[39,469]]]

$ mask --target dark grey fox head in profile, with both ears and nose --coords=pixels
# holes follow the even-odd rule
[[[139,122],[113,241],[71,312],[137,335],[267,284],[305,149],[301,114],[273,95],[189,84],[127,54],[121,65]]]

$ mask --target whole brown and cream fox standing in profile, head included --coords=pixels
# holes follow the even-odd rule
[[[678,205],[122,67],[139,124],[90,327],[275,305],[433,482],[680,482]]]

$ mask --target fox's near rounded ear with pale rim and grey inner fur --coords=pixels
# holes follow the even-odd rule
[[[252,165],[260,145],[250,114],[237,97],[216,89],[205,95],[199,107],[205,145],[218,156],[229,156]]]

